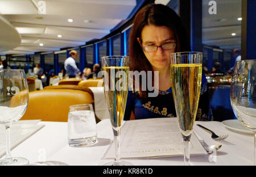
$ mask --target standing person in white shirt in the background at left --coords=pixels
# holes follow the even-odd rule
[[[64,68],[69,78],[75,78],[77,74],[81,74],[81,71],[76,66],[76,50],[71,50],[69,56],[64,62]]]

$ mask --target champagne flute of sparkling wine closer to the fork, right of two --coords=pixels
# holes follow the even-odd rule
[[[172,94],[184,142],[184,165],[189,165],[190,138],[201,89],[202,60],[201,52],[170,54]]]

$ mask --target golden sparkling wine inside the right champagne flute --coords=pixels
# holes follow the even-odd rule
[[[179,129],[184,136],[189,136],[199,103],[202,64],[172,64],[170,69]]]

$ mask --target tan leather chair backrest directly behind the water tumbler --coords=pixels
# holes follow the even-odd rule
[[[86,91],[48,89],[29,92],[27,110],[20,120],[68,121],[69,106],[93,104],[93,96]]]

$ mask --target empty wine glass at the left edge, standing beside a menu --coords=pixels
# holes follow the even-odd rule
[[[26,111],[28,84],[22,69],[0,69],[0,124],[6,129],[6,156],[0,165],[28,165],[22,157],[11,157],[10,128]]]

